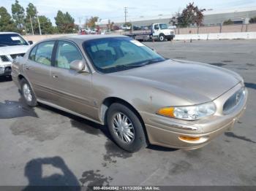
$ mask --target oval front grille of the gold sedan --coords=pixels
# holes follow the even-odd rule
[[[244,88],[241,88],[236,93],[231,95],[223,105],[223,113],[228,114],[232,109],[234,109],[240,101],[244,98]]]

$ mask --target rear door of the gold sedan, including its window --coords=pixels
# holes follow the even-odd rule
[[[31,50],[24,72],[37,95],[37,98],[50,100],[50,67],[55,41],[42,42]]]

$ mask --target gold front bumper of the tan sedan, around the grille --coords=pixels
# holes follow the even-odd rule
[[[157,114],[141,112],[151,144],[178,149],[197,149],[208,144],[219,134],[233,128],[234,124],[244,114],[248,92],[245,89],[244,98],[230,114],[222,114],[222,106],[231,95],[241,89],[238,84],[224,95],[214,100],[217,112],[206,119],[196,121],[177,120],[162,117]],[[197,141],[184,141],[181,136],[200,137]]]

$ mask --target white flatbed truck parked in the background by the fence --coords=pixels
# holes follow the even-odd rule
[[[148,31],[138,31],[126,34],[131,36],[133,39],[138,41],[148,41],[150,39],[157,39],[160,42],[165,40],[171,41],[175,37],[175,31],[168,28],[165,23],[154,23],[151,26],[151,30]]]

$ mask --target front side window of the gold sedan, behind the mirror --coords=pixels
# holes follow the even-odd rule
[[[56,52],[55,66],[61,69],[70,69],[70,63],[75,60],[83,60],[78,48],[70,42],[60,41]]]

